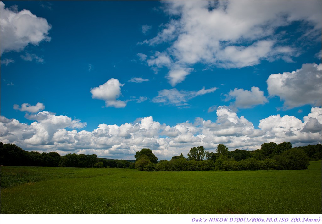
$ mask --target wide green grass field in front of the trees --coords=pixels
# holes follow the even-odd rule
[[[140,172],[1,166],[1,214],[321,214],[308,170]]]

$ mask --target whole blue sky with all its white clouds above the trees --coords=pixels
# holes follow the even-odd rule
[[[171,159],[322,140],[321,1],[1,1],[0,139]]]

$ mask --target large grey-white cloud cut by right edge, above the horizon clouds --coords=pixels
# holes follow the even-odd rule
[[[321,66],[315,63],[303,64],[296,71],[271,74],[266,81],[270,96],[278,96],[283,100],[284,109],[306,104],[321,106]]]

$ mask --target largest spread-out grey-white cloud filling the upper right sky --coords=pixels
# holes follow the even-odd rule
[[[169,22],[140,44],[170,44],[162,54],[171,61],[148,65],[166,66],[167,78],[175,86],[196,63],[242,68],[262,60],[293,61],[298,51],[283,45],[287,37],[278,28],[298,21],[306,25],[303,37],[320,39],[320,8],[319,1],[165,1]]]

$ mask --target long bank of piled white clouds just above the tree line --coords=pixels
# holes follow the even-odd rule
[[[78,131],[86,123],[42,111],[28,116],[35,120],[30,125],[0,116],[0,138],[25,150],[95,153],[115,159],[133,159],[142,148],[150,148],[158,159],[171,159],[181,153],[186,155],[190,148],[199,145],[215,151],[219,144],[227,145],[230,150],[255,150],[265,142],[286,141],[293,146],[321,142],[320,107],[313,107],[303,117],[304,122],[294,116],[272,115],[261,119],[259,128],[226,106],[218,106],[216,115],[215,121],[199,117],[194,122],[174,126],[160,124],[150,116],[120,126],[99,124],[92,131]]]

